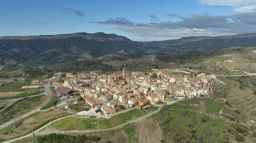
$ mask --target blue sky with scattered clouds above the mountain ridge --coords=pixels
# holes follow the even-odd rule
[[[132,41],[256,32],[256,0],[1,0],[0,36],[116,33]]]

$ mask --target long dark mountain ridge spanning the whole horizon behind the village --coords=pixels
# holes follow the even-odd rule
[[[103,32],[4,36],[0,37],[0,64],[22,63],[29,66],[43,66],[70,60],[113,58],[127,54],[182,54],[231,46],[256,46],[256,33],[185,37],[152,42],[131,41],[124,36]]]

